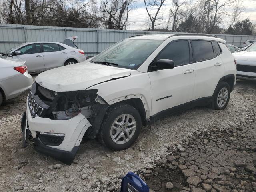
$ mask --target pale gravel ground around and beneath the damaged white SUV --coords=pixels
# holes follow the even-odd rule
[[[172,165],[173,167],[176,166],[174,167],[175,171],[173,170],[175,174],[170,172],[169,175],[166,169],[166,163],[168,162],[165,162],[165,158],[171,155],[184,155],[182,157],[185,159],[184,164],[186,164],[186,162],[189,163],[187,163],[187,167],[191,165],[199,167],[196,161],[189,159],[190,156],[201,156],[201,154],[203,155],[203,153],[208,152],[208,148],[209,151],[211,151],[211,148],[215,150],[215,148],[218,148],[219,142],[222,142],[227,147],[225,150],[230,148],[230,150],[234,150],[236,154],[239,152],[242,153],[242,155],[244,154],[245,157],[250,157],[248,158],[248,162],[246,162],[246,166],[254,166],[252,158],[254,152],[252,147],[254,146],[253,144],[256,138],[254,132],[256,112],[255,95],[255,82],[239,80],[225,110],[214,111],[206,107],[198,107],[163,118],[152,125],[144,126],[134,146],[120,152],[112,152],[104,146],[101,146],[96,140],[83,142],[80,145],[74,163],[71,166],[66,166],[53,158],[35,152],[32,145],[27,148],[22,148],[20,114],[26,106],[26,96],[23,94],[16,99],[5,102],[0,107],[0,190],[45,190],[47,192],[118,191],[121,178],[126,172],[138,169],[153,169],[153,172],[158,172],[160,176],[167,174],[167,178],[164,180],[165,183],[168,181],[175,184],[174,180],[179,181],[176,183],[180,184],[180,186],[175,186],[173,191],[182,190],[181,187],[190,187],[195,191],[195,183],[189,184],[188,178],[177,168],[178,164],[182,164],[179,158],[177,157],[178,164]],[[242,130],[236,130],[237,128],[241,128]],[[194,132],[196,133],[193,134]],[[215,135],[211,135],[211,133]],[[218,135],[218,133],[220,133],[220,135]],[[240,137],[240,135],[245,136]],[[216,138],[217,141],[211,140],[212,137]],[[233,141],[226,137],[234,137],[237,140]],[[219,141],[218,138],[222,138],[222,141]],[[204,144],[204,139],[208,140],[208,143]],[[250,144],[248,144],[249,140]],[[184,146],[187,155],[173,151],[173,148],[176,148],[175,145],[177,144]],[[204,148],[198,148],[201,145]],[[245,150],[244,148],[236,148],[237,145],[245,147]],[[235,146],[235,148],[233,146]],[[246,148],[246,146],[249,148]],[[192,153],[189,153],[187,150]],[[218,154],[209,152],[207,153],[207,157],[202,157],[205,158],[205,160],[207,158],[207,161],[211,161],[208,160],[209,157],[214,156],[216,158],[216,156],[218,157],[223,154],[221,151],[216,152],[218,152]],[[248,154],[251,155],[248,156]],[[236,165],[233,166],[234,162],[232,162],[232,160],[225,156],[223,158],[223,160],[228,163],[227,166],[236,167]],[[195,162],[194,164],[193,161]],[[156,164],[158,166],[156,166]],[[207,168],[211,170],[210,172],[217,172],[216,168],[213,168],[215,164],[210,164],[209,162],[208,164],[209,167]],[[248,182],[248,185],[250,185],[248,188],[237,188],[238,190],[247,192],[253,189],[253,180],[250,180],[249,176],[254,177],[254,172],[245,174],[246,166],[239,167],[237,171],[234,171],[236,182],[233,184],[236,185],[241,181]],[[218,166],[216,167],[218,169]],[[222,167],[225,168],[225,171],[229,170],[224,165]],[[215,172],[212,171],[211,168],[213,168]],[[190,172],[192,168],[187,169],[189,169],[188,172]],[[237,173],[240,172],[245,175],[245,178],[242,176],[240,176],[240,178],[237,177],[237,175],[239,176]],[[194,170],[194,173],[195,175],[192,177],[200,177],[201,174],[204,175],[202,171],[198,173]],[[207,176],[206,179],[208,179],[208,175],[206,172],[204,173]],[[225,174],[225,172],[220,172],[218,176],[223,174]],[[172,175],[176,177],[173,178]],[[224,185],[223,183],[217,182],[217,180],[223,181],[218,176],[211,178],[212,183],[210,183],[210,186],[216,184]],[[225,176],[226,181],[228,181],[229,177],[232,177],[227,174],[225,174]],[[246,176],[248,176],[248,179],[246,179]],[[203,180],[201,177],[200,179]],[[190,178],[190,180],[192,179]],[[199,192],[200,190],[204,190],[200,182],[198,183],[201,188],[198,189]],[[239,185],[244,186],[245,183]],[[233,186],[228,187],[231,189]],[[229,190],[229,188],[227,190]],[[166,188],[164,187],[163,190],[166,190]],[[212,190],[212,192],[215,191]]]

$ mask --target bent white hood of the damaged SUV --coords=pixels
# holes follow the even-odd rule
[[[114,78],[130,76],[131,70],[81,62],[42,72],[36,82],[56,92],[84,90]]]

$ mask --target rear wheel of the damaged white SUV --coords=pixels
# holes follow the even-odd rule
[[[224,94],[224,96],[223,96],[223,94]],[[228,105],[229,98],[230,98],[229,84],[224,81],[220,82],[214,91],[211,108],[214,110],[225,109],[226,106]]]

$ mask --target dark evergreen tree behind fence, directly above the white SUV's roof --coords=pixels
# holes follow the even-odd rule
[[[192,14],[188,18],[179,24],[177,28],[178,32],[196,33],[198,31],[199,22]]]

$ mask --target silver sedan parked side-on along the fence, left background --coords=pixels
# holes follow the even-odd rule
[[[26,60],[30,73],[42,72],[86,60],[83,50],[58,42],[23,43],[2,54],[15,59]]]

